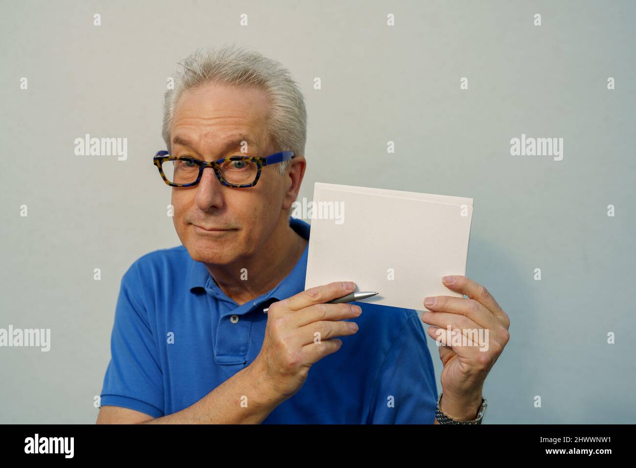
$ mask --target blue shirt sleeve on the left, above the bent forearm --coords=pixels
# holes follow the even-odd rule
[[[101,406],[121,406],[158,418],[163,416],[163,377],[158,350],[139,299],[144,287],[135,262],[121,278],[113,332],[111,361],[104,376]]]

